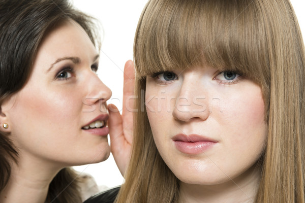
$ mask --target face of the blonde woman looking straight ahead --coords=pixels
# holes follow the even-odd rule
[[[147,76],[145,99],[158,151],[180,181],[221,184],[254,170],[266,122],[253,81],[194,67]]]

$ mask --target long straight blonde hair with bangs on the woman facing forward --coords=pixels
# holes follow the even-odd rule
[[[135,132],[116,202],[176,202],[179,180],[153,140],[146,75],[209,64],[260,85],[268,135],[256,202],[304,202],[305,53],[289,0],[151,0],[134,42]]]

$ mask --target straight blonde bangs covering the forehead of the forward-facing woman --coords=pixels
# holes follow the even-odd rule
[[[269,76],[262,18],[248,1],[149,2],[136,31],[138,77],[209,65],[257,83]]]

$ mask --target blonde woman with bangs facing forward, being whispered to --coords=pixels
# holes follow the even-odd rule
[[[289,0],[151,0],[134,59],[115,202],[304,202],[305,53]]]

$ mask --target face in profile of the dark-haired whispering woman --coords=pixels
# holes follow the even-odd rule
[[[3,109],[23,160],[68,166],[108,158],[111,91],[96,74],[98,63],[99,53],[76,22],[47,33],[31,77]]]

